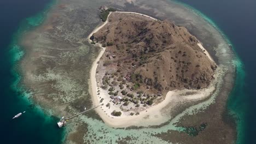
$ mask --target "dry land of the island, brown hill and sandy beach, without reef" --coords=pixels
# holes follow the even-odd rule
[[[103,115],[120,119],[143,113],[141,118],[148,118],[147,113],[162,110],[167,104],[163,101],[170,102],[177,91],[187,91],[188,98],[197,94],[195,99],[210,95],[217,65],[185,27],[139,13],[109,13],[101,7],[105,13],[103,25],[89,35],[91,44],[102,47],[91,81],[95,104],[104,104]]]

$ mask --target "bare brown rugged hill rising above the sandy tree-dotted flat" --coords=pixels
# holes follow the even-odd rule
[[[91,39],[107,46],[101,59],[107,71],[153,92],[207,87],[217,67],[186,28],[169,21],[112,13]]]

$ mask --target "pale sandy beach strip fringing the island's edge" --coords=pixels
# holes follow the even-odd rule
[[[133,12],[118,11],[118,12],[113,12],[113,13],[138,14],[138,15],[146,16],[153,20],[157,20],[154,17],[150,17],[148,15],[139,14],[139,13],[133,13]],[[112,13],[110,13],[110,14],[112,14]],[[108,17],[109,17],[109,15],[108,15]],[[91,42],[91,40],[90,40],[91,35],[96,33],[97,31],[99,31],[107,23],[108,23],[108,18],[107,18],[106,22],[104,22],[100,27],[97,27],[96,29],[94,29],[94,31],[92,31],[92,33],[88,37],[89,42]],[[202,50],[205,50],[200,42],[197,45],[199,45]],[[94,105],[98,105],[98,104],[100,104],[99,103],[100,98],[104,98],[104,100],[102,102],[102,103],[105,102],[104,105],[97,108],[96,111],[97,111],[98,115],[100,115],[102,120],[107,125],[109,125],[109,127],[124,128],[124,127],[130,127],[130,126],[148,127],[148,126],[152,126],[152,125],[160,125],[162,123],[167,122],[171,118],[175,117],[175,116],[166,116],[165,115],[166,113],[162,113],[163,109],[165,109],[165,107],[168,107],[169,104],[172,104],[172,106],[169,106],[168,109],[170,109],[171,111],[175,111],[176,106],[182,105],[181,103],[185,103],[185,102],[189,103],[190,101],[199,101],[199,100],[208,98],[208,96],[211,95],[211,93],[215,89],[215,87],[214,87],[215,82],[212,82],[211,86],[208,86],[207,88],[203,88],[200,90],[180,89],[180,90],[169,91],[166,94],[166,97],[164,100],[162,100],[159,104],[154,104],[154,105],[150,106],[149,108],[147,108],[146,110],[141,111],[139,113],[139,115],[130,116],[130,115],[122,114],[119,117],[112,116],[110,113],[114,109],[113,108],[110,109],[110,107],[108,108],[105,106],[110,99],[108,98],[108,95],[106,94],[106,92],[104,93],[104,90],[97,86],[97,81],[96,81],[96,69],[98,67],[97,62],[100,61],[100,58],[102,57],[104,51],[106,50],[106,47],[102,47],[101,44],[98,44],[98,43],[96,43],[96,46],[101,47],[101,52],[98,54],[97,58],[95,59],[94,63],[92,64],[92,68],[91,68],[90,82],[91,82],[92,102]],[[213,59],[208,54],[208,52],[206,50],[204,52],[211,59],[211,61],[213,61]],[[98,95],[97,95],[97,91],[100,91]],[[196,94],[187,95],[186,93],[196,93]],[[183,95],[185,95],[185,97],[182,97]],[[111,106],[111,107],[113,107],[113,106]]]

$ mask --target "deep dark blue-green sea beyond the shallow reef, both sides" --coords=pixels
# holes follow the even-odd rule
[[[228,109],[237,118],[237,143],[256,143],[256,1],[255,0],[178,0],[199,10],[212,20],[232,44],[242,63],[237,69],[236,85],[229,96]],[[0,1],[0,95],[1,143],[61,143],[63,129],[56,126],[57,118],[45,115],[17,91],[16,70],[19,57],[14,55],[16,40],[23,31],[42,19],[51,0]],[[31,23],[32,21],[32,23]],[[30,24],[29,24],[30,23]],[[17,48],[17,47],[16,47]],[[19,47],[18,47],[19,48]],[[18,119],[11,118],[26,111]]]

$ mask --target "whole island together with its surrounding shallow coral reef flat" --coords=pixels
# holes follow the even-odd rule
[[[101,5],[107,7],[98,10]],[[235,142],[236,124],[226,102],[239,63],[223,33],[201,13],[166,0],[60,0],[44,14],[45,20],[26,31],[19,40],[20,47],[15,46],[24,48],[19,70],[26,97],[50,116],[58,117],[56,123],[63,116],[83,112],[84,107],[103,104],[68,121],[65,143]],[[38,20],[28,22],[34,26]],[[127,26],[133,22],[137,27],[128,32],[122,26],[126,20]],[[121,33],[115,28],[122,28]],[[166,42],[161,37],[164,33]],[[147,43],[147,39],[152,41]],[[196,72],[202,75],[193,75]],[[124,88],[120,89],[123,80]],[[124,95],[123,90],[127,92]],[[122,100],[114,104],[119,96]]]

